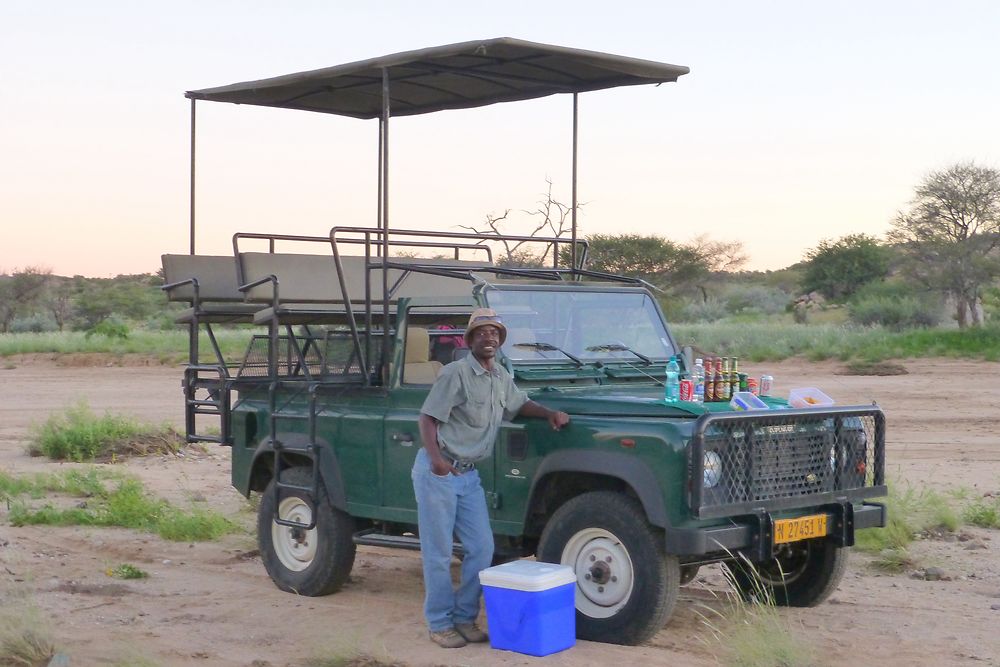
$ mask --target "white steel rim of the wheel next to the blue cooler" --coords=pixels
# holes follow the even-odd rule
[[[574,535],[560,562],[576,572],[576,608],[591,618],[614,616],[632,597],[632,559],[621,540],[602,528]]]

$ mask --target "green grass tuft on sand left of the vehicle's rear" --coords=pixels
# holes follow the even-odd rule
[[[121,415],[95,415],[84,403],[33,429],[28,452],[55,460],[93,461],[173,453],[184,438],[169,426],[150,426]]]

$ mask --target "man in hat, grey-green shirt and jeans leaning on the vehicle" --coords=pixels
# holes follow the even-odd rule
[[[559,430],[565,412],[528,400],[505,368],[494,362],[507,329],[490,308],[469,318],[465,342],[471,354],[448,364],[420,409],[423,448],[413,464],[413,491],[424,566],[424,616],[431,641],[444,648],[484,642],[479,616],[479,572],[493,560],[486,495],[476,462],[489,457],[506,416],[542,417]],[[458,590],[451,584],[452,536],[465,551]]]

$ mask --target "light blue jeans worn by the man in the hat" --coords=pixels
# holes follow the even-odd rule
[[[411,475],[417,497],[427,627],[440,632],[457,623],[471,623],[479,616],[483,590],[479,571],[493,560],[493,531],[479,471],[435,475],[427,452],[420,448]],[[453,536],[458,536],[465,549],[457,591],[451,583]]]

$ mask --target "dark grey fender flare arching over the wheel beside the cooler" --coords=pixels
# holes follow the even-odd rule
[[[555,472],[585,472],[606,477],[617,477],[628,484],[639,497],[649,522],[660,528],[669,528],[663,494],[656,476],[649,467],[634,456],[614,452],[595,452],[580,449],[563,449],[545,457],[538,466],[531,482],[532,501],[538,481]]]

